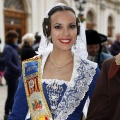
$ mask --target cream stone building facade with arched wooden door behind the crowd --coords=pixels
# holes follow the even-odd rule
[[[41,32],[46,11],[57,2],[71,6],[77,14],[80,12],[75,0],[0,0],[1,49],[10,29],[19,33],[19,42],[26,32]],[[83,17],[86,29],[95,29],[114,38],[120,32],[120,0],[87,0]]]

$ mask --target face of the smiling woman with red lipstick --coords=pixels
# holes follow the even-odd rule
[[[77,25],[71,11],[58,11],[51,16],[51,38],[54,49],[70,50],[76,41]]]

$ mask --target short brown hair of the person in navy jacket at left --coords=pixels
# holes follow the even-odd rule
[[[19,37],[19,35],[15,30],[9,30],[6,34],[5,43],[12,44],[12,43],[14,43],[14,39],[18,38],[18,37]]]

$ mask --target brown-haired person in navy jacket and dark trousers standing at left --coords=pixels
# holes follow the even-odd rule
[[[14,95],[17,90],[19,77],[21,75],[21,63],[18,55],[17,41],[18,33],[14,30],[8,31],[3,50],[5,57],[4,77],[8,86],[4,120],[8,119],[9,113],[12,109]]]

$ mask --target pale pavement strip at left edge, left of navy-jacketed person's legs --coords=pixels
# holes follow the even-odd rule
[[[7,96],[7,86],[5,85],[5,81],[3,80],[4,86],[0,86],[0,120],[3,120],[4,116],[4,105]]]

